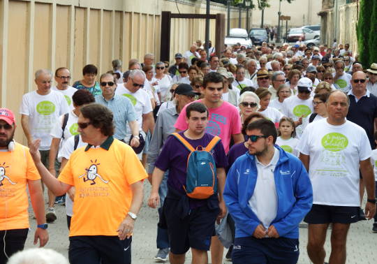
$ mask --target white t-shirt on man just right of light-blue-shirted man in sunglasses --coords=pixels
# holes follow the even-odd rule
[[[130,99],[133,107],[135,108],[135,117],[138,121],[140,130],[142,129],[142,115],[148,114],[153,111],[151,107],[151,100],[149,94],[145,89],[138,89],[135,93],[132,93],[126,87],[117,87],[115,94],[126,96]],[[131,134],[131,130],[127,127],[127,133]]]

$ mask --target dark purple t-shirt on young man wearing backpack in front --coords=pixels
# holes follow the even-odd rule
[[[208,143],[214,138],[214,135],[205,133],[202,138],[198,140],[191,140],[186,138],[184,131],[180,131],[179,135],[187,140],[188,143],[196,148],[198,146],[207,147]],[[216,163],[216,168],[226,168],[228,161],[226,159],[226,153],[223,144],[218,142],[214,149],[212,149],[212,155]],[[186,185],[186,164],[187,158],[190,152],[186,147],[175,138],[174,135],[170,135],[163,145],[160,155],[154,163],[154,166],[160,170],[169,170],[168,185],[170,188],[174,188],[180,193],[186,193],[183,186]]]

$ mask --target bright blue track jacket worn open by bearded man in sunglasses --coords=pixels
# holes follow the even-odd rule
[[[302,162],[290,153],[279,149],[279,161],[274,171],[278,198],[277,214],[273,225],[280,237],[298,239],[299,223],[311,209],[313,190]],[[224,200],[235,221],[235,237],[250,237],[260,224],[249,205],[256,187],[256,157],[246,153],[233,163],[226,178]]]

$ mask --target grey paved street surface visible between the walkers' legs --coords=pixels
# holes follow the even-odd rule
[[[157,210],[147,206],[150,185],[145,182],[145,203],[140,212],[140,217],[135,224],[135,233],[132,242],[132,258],[135,264],[154,263],[153,257],[156,254],[156,223],[158,221]],[[365,199],[364,199],[365,200]],[[59,251],[61,254],[68,256],[68,229],[66,226],[66,211],[61,205],[56,206],[58,219],[56,223],[49,225],[48,231],[50,241],[47,248]],[[30,213],[32,217],[32,214]],[[31,219],[31,218],[30,218]],[[35,220],[31,219],[31,233],[29,233],[26,248],[35,247],[33,245]],[[96,221],[96,219],[88,219]],[[371,232],[372,221],[361,221],[355,223],[350,228],[348,234],[348,253],[347,263],[350,264],[372,264],[376,263],[377,234]],[[307,230],[300,228],[300,264],[311,263],[306,254]],[[330,252],[330,235],[326,242],[327,254]],[[224,256],[226,251],[224,252]],[[191,263],[191,254],[187,255],[186,263]],[[224,261],[224,263],[230,263]]]

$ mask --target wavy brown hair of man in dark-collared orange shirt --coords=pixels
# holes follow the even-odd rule
[[[101,129],[103,135],[114,135],[113,115],[105,105],[90,103],[81,108],[81,114],[84,118],[90,120],[92,126]]]

